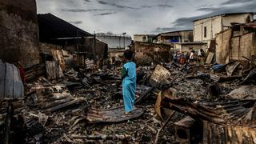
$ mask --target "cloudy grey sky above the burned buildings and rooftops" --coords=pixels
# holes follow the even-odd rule
[[[90,33],[158,34],[192,29],[194,19],[256,12],[256,0],[36,0],[51,13]]]

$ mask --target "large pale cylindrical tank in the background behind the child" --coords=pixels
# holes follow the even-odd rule
[[[131,38],[127,36],[120,35],[96,35],[96,38],[108,45],[109,50],[111,49],[124,49],[131,43]],[[125,45],[125,47],[124,47]]]

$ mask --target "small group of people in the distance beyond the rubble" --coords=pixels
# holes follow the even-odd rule
[[[190,52],[189,51],[186,51],[186,52],[176,51],[176,52],[174,52],[173,61],[180,65],[184,65],[186,62],[193,64],[194,62],[197,62],[197,63],[203,62],[204,57],[205,57],[205,52],[202,49],[198,50],[197,56],[195,56],[194,50],[190,50]]]

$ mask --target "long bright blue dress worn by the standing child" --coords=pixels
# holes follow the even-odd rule
[[[126,113],[134,110],[135,91],[136,91],[136,64],[127,62],[123,69],[126,75],[122,79],[122,98],[125,104]]]

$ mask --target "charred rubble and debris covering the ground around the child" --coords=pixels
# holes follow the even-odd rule
[[[61,78],[45,70],[21,98],[2,98],[3,141],[22,133],[28,143],[254,142],[255,68],[239,65],[138,66],[137,108],[127,116],[120,69],[60,68]]]

